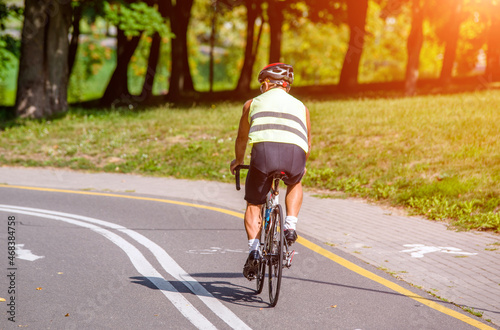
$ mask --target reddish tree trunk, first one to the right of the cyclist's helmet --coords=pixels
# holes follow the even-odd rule
[[[358,85],[359,62],[365,43],[365,25],[368,0],[350,0],[347,3],[347,21],[350,36],[349,47],[340,72],[339,88],[352,90]]]

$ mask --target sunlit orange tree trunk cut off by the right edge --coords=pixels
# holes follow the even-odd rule
[[[491,25],[488,31],[485,78],[488,82],[500,80],[500,14],[497,11],[492,14]]]

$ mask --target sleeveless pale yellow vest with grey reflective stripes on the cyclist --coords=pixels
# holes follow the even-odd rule
[[[259,142],[295,144],[307,153],[306,107],[280,88],[253,99],[248,115],[250,145]]]

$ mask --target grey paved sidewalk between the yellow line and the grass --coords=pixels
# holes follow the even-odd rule
[[[0,167],[0,183],[59,189],[135,192],[215,204],[243,213],[243,192],[232,184]],[[1,203],[1,201],[0,201]],[[483,312],[500,326],[500,235],[455,232],[445,224],[405,217],[351,199],[304,195],[299,235],[307,234],[436,296]]]

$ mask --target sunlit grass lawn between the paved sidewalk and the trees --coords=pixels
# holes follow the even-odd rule
[[[305,103],[313,136],[307,187],[500,232],[499,91]],[[0,164],[232,182],[241,106],[18,119],[0,131]]]

